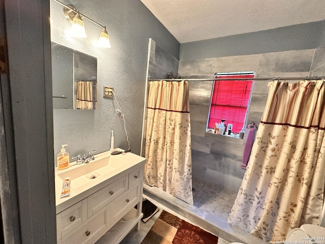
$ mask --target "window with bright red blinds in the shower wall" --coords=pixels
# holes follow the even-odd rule
[[[254,72],[215,73],[214,78],[254,78]],[[232,132],[238,133],[246,125],[246,119],[253,88],[253,80],[215,80],[212,90],[208,129],[225,119],[232,124]]]

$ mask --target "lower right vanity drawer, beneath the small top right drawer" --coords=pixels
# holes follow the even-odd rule
[[[118,222],[140,200],[140,186],[129,189],[112,203],[112,220]]]

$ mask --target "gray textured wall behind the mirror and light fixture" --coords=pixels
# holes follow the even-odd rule
[[[62,7],[51,0],[51,40],[98,58],[98,109],[91,111],[58,110],[54,117],[54,153],[61,144],[69,144],[71,156],[109,150],[111,130],[115,147],[127,149],[123,121],[116,113],[113,99],[103,98],[103,85],[112,86],[125,114],[126,130],[134,153],[140,154],[143,105],[149,38],[178,58],[179,43],[139,0],[66,1],[87,17],[107,25],[112,47],[92,45],[100,27],[84,20],[87,38],[67,40],[64,30],[70,24]]]

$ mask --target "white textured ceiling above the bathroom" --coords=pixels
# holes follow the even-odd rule
[[[180,42],[325,19],[325,0],[141,0]]]

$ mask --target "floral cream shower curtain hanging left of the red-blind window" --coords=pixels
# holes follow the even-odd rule
[[[149,84],[145,180],[193,204],[188,82]]]

